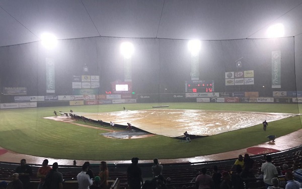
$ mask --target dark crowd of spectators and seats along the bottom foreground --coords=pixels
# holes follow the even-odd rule
[[[122,189],[299,189],[301,187],[301,151],[294,152],[292,156],[281,155],[272,158],[270,155],[264,155],[263,157],[264,159],[254,160],[245,154],[239,155],[233,165],[217,162],[208,167],[175,169],[164,169],[165,165],[155,158],[149,169],[153,176],[145,180],[138,164],[139,159],[134,157],[131,159],[127,172],[116,177],[121,178],[119,186]],[[73,176],[77,178],[77,187],[109,189],[111,185],[108,182],[110,177],[107,163],[101,161],[97,175],[90,166],[89,162],[85,162],[82,165],[82,171]],[[11,174],[6,179],[0,173],[1,180],[4,180],[0,181],[0,189],[34,189],[31,184],[33,178],[39,179],[39,184],[35,188],[61,189],[65,173],[59,172],[58,167],[56,162],[52,164],[52,167],[49,166],[48,160],[45,159],[35,174],[32,167],[26,164],[26,160],[22,159],[21,164],[10,172]],[[64,177],[66,179],[66,175]]]

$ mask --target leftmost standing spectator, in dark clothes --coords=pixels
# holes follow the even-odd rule
[[[30,187],[30,176],[33,175],[31,166],[26,164],[26,159],[21,160],[21,165],[16,168],[16,173],[19,173],[19,179],[23,183],[23,188]]]

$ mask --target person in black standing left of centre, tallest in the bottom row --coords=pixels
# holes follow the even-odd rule
[[[134,157],[131,159],[132,164],[127,169],[128,187],[131,189],[140,189],[143,185],[141,177],[141,169],[138,167],[138,158]]]

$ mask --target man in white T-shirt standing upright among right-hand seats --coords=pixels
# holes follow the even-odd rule
[[[272,157],[270,155],[267,155],[266,162],[261,166],[261,172],[263,172],[263,181],[266,185],[266,188],[268,186],[272,186],[273,184],[271,182],[271,179],[278,176],[277,169],[271,162]]]

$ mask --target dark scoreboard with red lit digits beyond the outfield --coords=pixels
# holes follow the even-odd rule
[[[193,80],[185,82],[186,93],[206,93],[214,91],[214,81]]]

